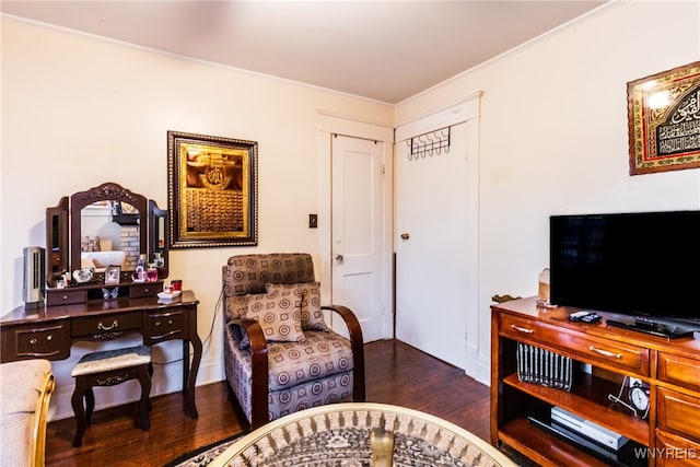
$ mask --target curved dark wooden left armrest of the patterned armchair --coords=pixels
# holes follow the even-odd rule
[[[253,407],[250,415],[250,428],[256,429],[268,421],[268,362],[267,342],[262,328],[253,318],[232,319],[232,324],[240,325],[248,336],[250,342],[250,358],[253,375],[250,386],[253,388]],[[262,397],[260,397],[262,396]]]

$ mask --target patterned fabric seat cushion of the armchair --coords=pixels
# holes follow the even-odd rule
[[[245,362],[245,375],[253,374],[250,351],[240,349],[242,334],[236,324],[231,325],[228,338],[236,343],[240,358]],[[237,328],[237,329],[234,329]],[[306,342],[268,342],[268,377],[271,392],[287,389],[301,383],[347,373],[353,369],[350,341],[334,331],[307,330]]]

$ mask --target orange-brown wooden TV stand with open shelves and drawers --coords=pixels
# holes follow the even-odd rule
[[[557,406],[629,437],[643,465],[700,465],[700,340],[608,327],[606,313],[597,324],[571,323],[575,308],[539,308],[534,297],[491,310],[492,445],[504,443],[544,466],[609,465],[528,422]],[[580,362],[571,390],[522,382],[518,342]],[[648,419],[608,399],[626,375],[649,384]]]

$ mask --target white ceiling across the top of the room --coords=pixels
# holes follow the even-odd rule
[[[12,1],[22,16],[396,104],[606,1]]]

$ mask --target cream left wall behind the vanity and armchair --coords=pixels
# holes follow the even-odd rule
[[[308,252],[322,272],[319,230],[308,229],[322,203],[317,112],[390,127],[394,108],[13,17],[1,28],[0,314],[23,305],[22,248],[45,245],[46,208],[61,196],[108,180],[166,208],[167,130],[258,142],[259,246],[171,253],[170,278],[201,302],[200,337],[212,331],[198,384],[222,380],[220,315],[211,326],[229,256]],[[54,362],[51,418],[72,416],[70,370],[93,347],[77,345],[69,360]],[[158,346],[154,360],[177,360],[179,349]],[[177,390],[179,369],[156,365],[153,394]],[[129,384],[102,392],[97,405],[138,394]]]

